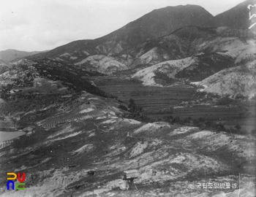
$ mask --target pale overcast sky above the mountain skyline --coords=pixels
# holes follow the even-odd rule
[[[211,15],[243,0],[0,0],[0,50],[51,50],[96,39],[153,9],[197,4]]]

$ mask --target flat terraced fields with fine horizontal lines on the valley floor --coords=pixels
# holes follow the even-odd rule
[[[145,86],[139,80],[128,77],[88,77],[99,89],[117,96],[128,104],[129,99],[143,107],[148,117],[158,119],[166,116],[181,118],[204,117],[211,120],[234,120],[241,117],[244,107],[203,104],[203,93],[192,85],[172,87]],[[246,109],[247,110],[247,109]]]

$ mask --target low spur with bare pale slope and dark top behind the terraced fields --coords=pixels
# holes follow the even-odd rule
[[[164,61],[141,69],[132,77],[143,81],[144,85],[173,85],[179,79],[198,81],[222,69],[234,66],[233,58],[221,53],[195,55],[176,61]],[[169,83],[169,84],[168,84]]]

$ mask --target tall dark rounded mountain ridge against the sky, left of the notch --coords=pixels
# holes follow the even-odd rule
[[[171,19],[171,23],[167,18]],[[84,55],[83,50],[90,55],[114,55],[147,39],[165,36],[177,28],[187,25],[215,26],[215,21],[213,15],[206,9],[196,5],[154,9],[110,34],[97,39],[69,42],[67,45],[56,47],[42,55],[48,58],[61,55],[65,48],[67,53],[70,50],[77,50],[80,55]],[[76,63],[76,61],[72,63]]]

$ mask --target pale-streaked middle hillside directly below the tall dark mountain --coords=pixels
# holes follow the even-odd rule
[[[136,68],[201,53],[225,53],[235,58],[236,64],[250,61],[255,58],[255,33],[227,27],[187,26],[125,50],[119,57]]]

